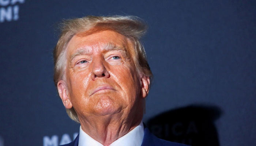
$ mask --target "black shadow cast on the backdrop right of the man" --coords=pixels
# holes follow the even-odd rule
[[[219,146],[214,121],[222,114],[212,105],[189,105],[163,112],[147,122],[158,138],[191,146]]]

